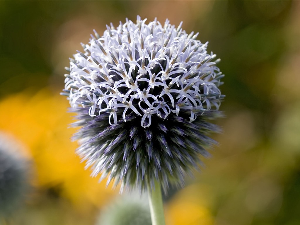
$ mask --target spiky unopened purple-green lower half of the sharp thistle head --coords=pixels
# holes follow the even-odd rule
[[[126,116],[126,122],[119,119],[118,125],[111,126],[107,113],[92,118],[88,109],[73,111],[79,119],[74,125],[82,126],[74,136],[81,143],[77,153],[86,160],[87,167],[92,165],[93,176],[102,172],[101,178],[108,176],[108,182],[121,182],[122,188],[144,190],[147,183],[153,186],[155,179],[164,190],[169,183],[183,185],[184,175],[199,169],[199,156],[209,156],[205,146],[216,144],[207,135],[219,131],[218,126],[208,122],[216,116],[211,113],[189,123],[189,112],[182,111],[167,119],[155,117],[149,128],[143,128],[141,117],[134,112]]]

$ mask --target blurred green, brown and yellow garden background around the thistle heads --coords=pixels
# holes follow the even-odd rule
[[[59,92],[93,29],[137,15],[200,32],[226,75],[220,146],[166,197],[167,224],[300,224],[300,1],[288,0],[0,1],[0,130],[31,165],[10,223],[95,224],[119,198],[74,154]]]

